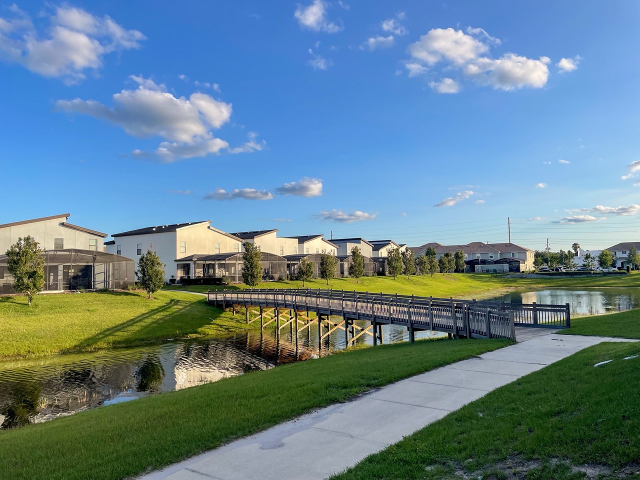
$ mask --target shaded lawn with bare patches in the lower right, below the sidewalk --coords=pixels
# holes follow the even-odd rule
[[[598,479],[618,478],[609,470],[631,464],[632,476],[640,470],[640,358],[621,358],[637,353],[637,343],[580,351],[494,390],[332,479],[577,480],[586,476],[571,465],[584,464],[595,464],[602,474]]]

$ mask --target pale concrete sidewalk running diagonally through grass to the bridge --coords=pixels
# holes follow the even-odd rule
[[[308,413],[141,478],[325,479],[495,388],[607,341],[635,340],[555,333],[534,337]]]

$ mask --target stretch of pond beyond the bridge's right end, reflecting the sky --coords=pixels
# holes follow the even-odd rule
[[[511,292],[486,300],[508,303],[568,303],[572,316],[602,315],[640,308],[640,289],[547,289],[531,292]]]

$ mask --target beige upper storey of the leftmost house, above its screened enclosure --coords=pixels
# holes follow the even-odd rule
[[[6,252],[20,237],[26,236],[31,236],[40,243],[42,250],[76,248],[102,252],[104,238],[108,235],[68,223],[69,216],[70,214],[63,213],[0,225],[0,253]]]

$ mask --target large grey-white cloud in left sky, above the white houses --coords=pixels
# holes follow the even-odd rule
[[[228,148],[227,141],[216,138],[213,131],[229,121],[232,113],[230,103],[200,92],[192,93],[189,98],[175,97],[167,92],[164,84],[156,84],[142,76],[130,78],[138,88],[115,93],[113,106],[96,100],[74,99],[58,100],[56,108],[107,120],[137,138],[162,137],[164,141],[154,155],[163,162],[219,154]],[[257,143],[256,136],[255,132],[250,133],[248,142],[229,151],[262,150],[264,141]],[[137,149],[131,156],[152,157],[150,153]]]

